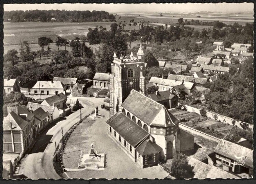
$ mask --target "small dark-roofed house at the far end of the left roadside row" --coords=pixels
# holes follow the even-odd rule
[[[33,114],[35,114],[35,125],[37,126],[37,133],[40,133],[45,127],[50,124],[50,118],[48,112],[39,107],[36,110],[31,110]]]

